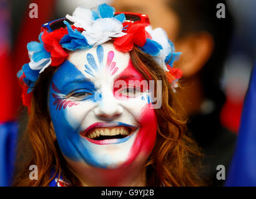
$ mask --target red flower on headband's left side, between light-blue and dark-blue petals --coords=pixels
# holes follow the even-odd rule
[[[42,34],[44,49],[51,53],[52,66],[60,65],[68,56],[67,52],[59,44],[62,37],[66,34],[68,34],[67,29],[64,28],[54,30],[53,32],[44,30],[44,33]]]

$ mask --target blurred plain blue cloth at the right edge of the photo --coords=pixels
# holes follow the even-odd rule
[[[239,137],[226,186],[256,186],[256,65],[245,97]]]

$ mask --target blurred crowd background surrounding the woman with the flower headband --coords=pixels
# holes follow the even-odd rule
[[[254,0],[0,0],[0,186],[11,185],[15,147],[26,128],[16,73],[29,62],[27,43],[37,40],[45,22],[102,2],[116,11],[147,14],[152,27],[164,28],[182,52],[175,63],[184,72],[177,95],[189,116],[189,131],[205,153],[201,175],[208,185],[224,185],[216,167],[229,169],[255,63]],[[32,3],[38,18],[29,17]],[[222,18],[217,17],[219,3],[225,6]]]

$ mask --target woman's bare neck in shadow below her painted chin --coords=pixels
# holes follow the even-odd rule
[[[73,173],[79,178],[84,187],[145,187],[145,169],[136,164],[119,169],[100,169],[83,162],[70,162]]]

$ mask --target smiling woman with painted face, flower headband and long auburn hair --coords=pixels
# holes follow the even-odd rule
[[[164,30],[142,14],[114,16],[107,4],[43,29],[19,73],[32,154],[15,186],[201,184],[200,152],[175,98],[180,53]]]

